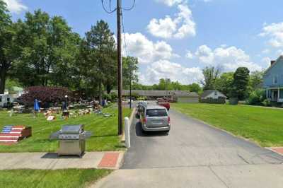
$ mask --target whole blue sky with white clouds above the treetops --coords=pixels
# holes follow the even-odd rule
[[[40,8],[64,17],[82,37],[101,19],[117,30],[116,14],[106,13],[100,0],[4,1],[13,20]],[[122,0],[123,8],[133,1]],[[205,66],[262,71],[283,54],[282,6],[282,0],[136,0],[122,13],[123,54],[138,57],[139,82],[145,85],[160,78],[198,83]]]

